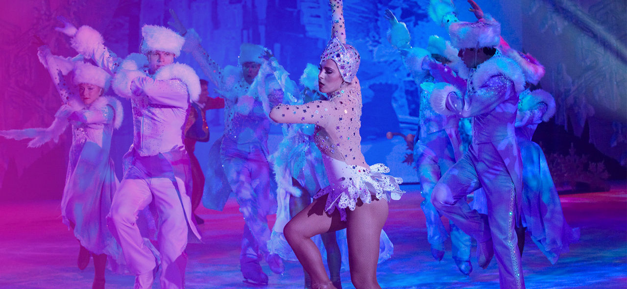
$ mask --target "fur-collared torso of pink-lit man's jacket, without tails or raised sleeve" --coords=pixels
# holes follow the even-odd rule
[[[148,73],[145,55],[132,53],[113,78],[113,91],[131,99],[135,150],[155,155],[183,146],[183,131],[190,98],[198,100],[200,81],[184,64],[172,63]]]

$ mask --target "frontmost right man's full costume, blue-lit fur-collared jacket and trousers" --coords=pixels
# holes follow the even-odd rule
[[[522,191],[514,122],[523,85],[520,68],[497,54],[470,72],[464,93],[445,86],[431,96],[436,112],[473,117],[472,144],[436,184],[433,205],[478,242],[492,239],[501,288],[524,288],[514,231]],[[461,201],[479,188],[487,198],[487,218]]]

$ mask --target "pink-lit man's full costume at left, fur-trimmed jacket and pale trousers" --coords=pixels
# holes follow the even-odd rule
[[[131,273],[145,275],[160,261],[161,287],[183,288],[188,228],[201,238],[191,218],[191,167],[182,142],[189,103],[200,91],[198,76],[179,63],[150,75],[145,55],[133,53],[122,61],[102,43],[84,46],[89,49],[83,55],[115,75],[113,90],[132,104],[134,139],[124,155],[125,174],[107,218],[110,229]],[[159,253],[146,246],[144,237],[151,236],[142,236],[137,223],[149,205],[159,215]]]

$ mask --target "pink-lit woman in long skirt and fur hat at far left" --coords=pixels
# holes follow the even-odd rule
[[[65,104],[47,129],[7,130],[0,131],[0,135],[10,139],[33,138],[28,146],[38,147],[50,140],[56,142],[71,123],[72,144],[61,197],[61,216],[80,243],[78,268],[85,269],[91,255],[95,268],[92,288],[104,288],[107,256],[113,271],[124,271],[118,263],[124,262],[122,251],[105,221],[119,184],[110,147],[113,129],[122,124],[122,105],[113,97],[103,96],[110,83],[110,76],[104,70],[83,63],[80,57],[51,55],[47,46],[40,47],[38,56],[53,76]],[[73,71],[72,82],[76,87],[70,87],[63,76],[70,71]]]

